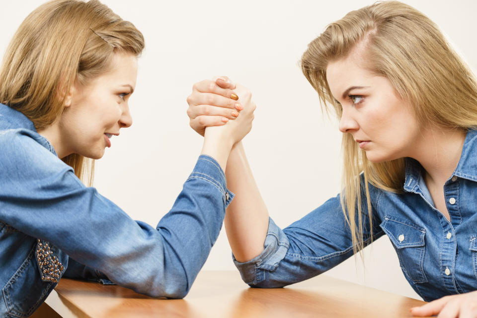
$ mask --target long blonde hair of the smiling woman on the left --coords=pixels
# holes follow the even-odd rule
[[[53,0],[31,12],[11,40],[0,69],[0,103],[23,113],[37,130],[64,111],[65,93],[106,72],[113,52],[139,56],[144,37],[98,0]],[[62,93],[63,92],[63,93]],[[63,161],[92,184],[94,161]]]

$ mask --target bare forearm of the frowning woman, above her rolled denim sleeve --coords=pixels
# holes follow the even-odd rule
[[[226,177],[227,188],[236,197],[227,208],[225,228],[235,258],[244,262],[263,251],[268,229],[268,210],[258,191],[241,142],[230,152]]]

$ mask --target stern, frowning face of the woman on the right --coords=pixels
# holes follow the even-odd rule
[[[383,76],[361,67],[357,53],[329,63],[326,80],[343,114],[339,130],[350,133],[371,162],[409,156],[419,137],[410,103]]]

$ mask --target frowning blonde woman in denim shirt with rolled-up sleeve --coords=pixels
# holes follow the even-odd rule
[[[282,230],[269,219],[236,145],[226,176],[237,196],[225,225],[243,280],[253,287],[298,282],[386,234],[409,284],[424,300],[435,300],[413,315],[477,317],[472,73],[432,21],[397,1],[331,23],[301,65],[339,119],[344,190]],[[196,129],[214,125],[195,106],[204,93],[189,97]],[[210,105],[209,114],[222,115],[221,106]],[[454,294],[462,295],[448,296]]]

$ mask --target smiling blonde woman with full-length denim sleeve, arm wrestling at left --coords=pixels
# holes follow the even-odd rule
[[[217,239],[232,145],[251,127],[246,92],[224,89],[240,119],[207,131],[201,156],[156,228],[79,178],[132,124],[143,35],[97,0],[54,0],[23,21],[0,70],[0,317],[27,317],[61,277],[153,297],[188,292]]]

